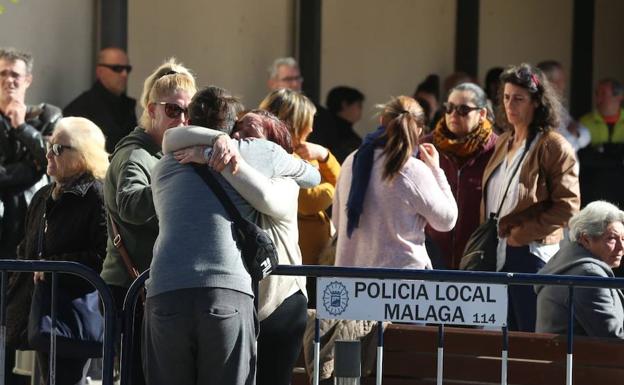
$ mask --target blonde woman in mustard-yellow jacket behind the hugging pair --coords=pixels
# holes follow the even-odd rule
[[[318,256],[331,237],[331,220],[325,210],[334,198],[340,163],[325,147],[306,141],[312,132],[316,113],[310,99],[296,91],[279,89],[267,95],[260,108],[287,124],[295,153],[318,167],[321,173],[318,186],[299,192],[298,208],[299,247],[303,264],[318,264]]]

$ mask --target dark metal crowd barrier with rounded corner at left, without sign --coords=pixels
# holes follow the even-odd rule
[[[102,347],[103,369],[102,384],[113,385],[113,360],[115,356],[115,320],[116,311],[113,295],[100,278],[99,274],[91,268],[77,262],[65,261],[25,261],[25,260],[0,260],[0,385],[5,383],[5,353],[6,353],[6,306],[7,306],[7,283],[9,272],[46,272],[52,273],[52,323],[56,322],[56,298],[55,291],[58,282],[58,273],[77,275],[98,291],[104,308],[104,343]],[[56,378],[56,334],[50,336],[50,379],[49,384],[54,385]],[[36,373],[34,375],[37,375]]]

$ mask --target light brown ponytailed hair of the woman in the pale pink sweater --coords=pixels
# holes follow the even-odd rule
[[[425,126],[425,114],[418,102],[409,96],[394,97],[377,107],[381,109],[381,124],[385,128],[383,136],[386,138],[383,179],[392,180],[418,147],[418,137]]]

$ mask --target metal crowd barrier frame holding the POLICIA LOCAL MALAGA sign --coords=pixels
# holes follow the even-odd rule
[[[574,348],[574,306],[572,298],[575,287],[597,287],[609,289],[624,289],[624,278],[599,278],[571,275],[542,275],[526,273],[494,273],[494,272],[473,272],[459,270],[414,270],[414,269],[387,269],[387,268],[357,268],[357,267],[336,267],[336,266],[286,266],[280,265],[273,274],[288,276],[307,277],[350,277],[350,278],[375,278],[375,279],[400,279],[418,280],[433,282],[457,282],[457,283],[483,283],[500,285],[558,285],[568,286],[570,296],[570,309],[568,313],[568,334],[567,334],[567,357],[566,357],[566,385],[572,385],[572,365]],[[125,381],[130,373],[132,357],[132,336],[133,331],[125,330],[129,325],[133,325],[134,309],[141,289],[148,278],[149,271],[144,272],[132,284],[124,302],[124,333],[121,360],[121,385],[127,384]],[[379,321],[378,348],[377,348],[377,375],[376,384],[382,383],[383,367],[383,328]],[[438,367],[437,384],[442,384],[443,371],[443,351],[444,351],[444,325],[439,325],[438,329]],[[507,327],[502,327],[503,349],[501,352],[501,384],[507,384],[507,358],[508,358],[508,331]],[[315,365],[313,373],[313,384],[319,384],[319,350],[320,332],[319,319],[316,319],[315,332]]]

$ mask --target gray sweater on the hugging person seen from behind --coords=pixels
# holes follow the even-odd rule
[[[318,183],[318,172],[281,147],[264,140],[240,141],[243,158],[267,177],[293,176]],[[257,212],[213,173],[249,220]],[[305,183],[304,183],[305,184]],[[147,296],[197,287],[219,287],[253,295],[251,279],[233,237],[232,223],[210,188],[190,165],[167,154],[156,165],[152,192],[160,223]]]

